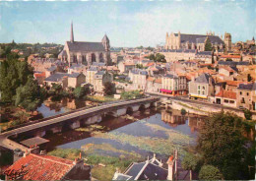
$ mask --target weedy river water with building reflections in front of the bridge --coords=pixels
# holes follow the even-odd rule
[[[182,155],[187,146],[195,145],[203,119],[198,115],[182,116],[176,110],[168,113],[153,109],[138,111],[133,116],[139,121],[103,117],[97,124],[100,130],[81,128],[46,136],[51,141],[48,149],[81,149],[87,153],[116,156],[146,156],[155,152],[164,158],[178,148]]]

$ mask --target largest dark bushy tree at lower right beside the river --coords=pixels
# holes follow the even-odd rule
[[[221,170],[224,179],[238,179],[246,155],[244,129],[242,118],[223,111],[203,121],[197,150],[202,154],[205,164],[217,166]]]

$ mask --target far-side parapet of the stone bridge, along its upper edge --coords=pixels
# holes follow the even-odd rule
[[[148,98],[148,97],[150,97],[150,96],[145,96],[143,98]],[[94,108],[94,107],[101,106],[101,105],[121,103],[121,102],[129,101],[129,100],[137,100],[137,99],[141,99],[141,98],[132,98],[132,99],[128,99],[128,100],[115,100],[115,101],[103,102],[103,103],[100,103],[98,105],[93,105],[93,106],[90,106],[90,107],[82,107],[82,108],[79,108],[79,109],[75,109],[75,110],[71,110],[71,111],[68,111],[68,112],[60,113],[60,114],[57,114],[57,115],[54,115],[54,116],[49,116],[49,117],[46,117],[46,118],[42,118],[42,119],[38,119],[38,120],[35,120],[35,121],[30,121],[30,122],[27,122],[27,123],[16,125],[16,126],[7,128],[6,130],[3,130],[3,131],[0,130],[0,133],[4,133],[4,132],[11,131],[11,130],[14,130],[14,129],[18,129],[18,128],[21,128],[21,127],[24,127],[24,126],[29,126],[29,125],[32,125],[34,123],[47,121],[47,120],[50,120],[50,119],[65,116],[67,114],[71,114],[71,113],[78,112],[78,111],[81,111],[81,110],[86,110],[86,109],[89,109],[89,108]]]

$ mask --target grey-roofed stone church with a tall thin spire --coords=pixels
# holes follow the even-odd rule
[[[110,41],[105,34],[101,42],[75,41],[73,23],[71,23],[70,41],[66,41],[58,58],[63,62],[73,64],[93,65],[94,62],[102,62],[111,65]]]

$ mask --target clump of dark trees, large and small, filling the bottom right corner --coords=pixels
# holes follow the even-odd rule
[[[199,179],[253,179],[254,143],[244,137],[253,128],[230,113],[214,114],[203,122],[195,152],[187,153],[182,167],[199,173]]]

